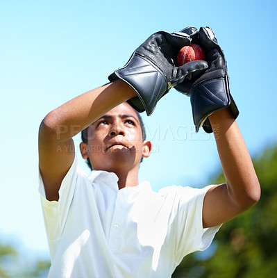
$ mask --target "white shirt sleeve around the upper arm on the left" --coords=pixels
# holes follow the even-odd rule
[[[49,201],[46,199],[44,184],[41,174],[39,174],[39,193],[42,202],[44,224],[47,231],[49,244],[60,240],[60,236],[65,227],[65,221],[69,212],[70,204],[74,195],[77,177],[77,158],[75,156],[72,166],[68,170],[59,190],[59,200]]]

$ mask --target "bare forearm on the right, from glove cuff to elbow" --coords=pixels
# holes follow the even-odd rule
[[[260,185],[240,129],[228,108],[210,115],[228,195],[247,208],[260,198]]]

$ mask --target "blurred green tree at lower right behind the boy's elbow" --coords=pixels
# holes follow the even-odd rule
[[[249,211],[230,220],[215,236],[215,253],[199,260],[199,252],[185,257],[172,277],[277,277],[277,145],[253,159],[262,195]],[[224,183],[221,172],[212,183]]]

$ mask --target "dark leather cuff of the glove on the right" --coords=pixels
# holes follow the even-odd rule
[[[197,84],[192,89],[190,102],[196,132],[203,126],[205,132],[211,133],[212,126],[208,116],[220,109],[230,107],[235,118],[239,115],[235,101],[230,95],[228,75]]]

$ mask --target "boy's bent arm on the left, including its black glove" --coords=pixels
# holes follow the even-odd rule
[[[176,46],[190,42],[187,34],[160,31],[151,35],[124,67],[109,76],[112,83],[68,101],[44,118],[39,133],[39,163],[47,199],[58,200],[62,179],[74,161],[74,135],[126,100],[137,111],[150,115],[172,86],[187,74],[208,67],[203,61],[176,67],[171,61]]]

